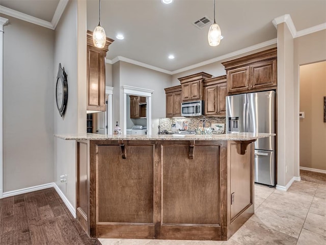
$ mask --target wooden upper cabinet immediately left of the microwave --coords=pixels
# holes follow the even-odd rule
[[[181,116],[181,85],[165,88],[166,116]]]

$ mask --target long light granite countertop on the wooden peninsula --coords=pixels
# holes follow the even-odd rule
[[[65,140],[255,140],[266,138],[276,134],[268,133],[231,133],[213,135],[180,135],[180,134],[161,134],[161,135],[103,135],[103,134],[55,134],[55,137]]]

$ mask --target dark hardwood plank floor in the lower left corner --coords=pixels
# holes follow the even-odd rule
[[[1,245],[97,245],[54,188],[0,199]]]

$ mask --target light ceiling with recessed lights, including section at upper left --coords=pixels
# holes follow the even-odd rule
[[[50,21],[59,2],[66,0],[1,0],[1,5]],[[98,0],[87,0],[87,28],[98,24]],[[326,23],[326,0],[216,0],[216,22],[224,39],[208,45],[209,25],[193,22],[213,19],[213,0],[101,0],[101,25],[115,41],[106,58],[124,57],[167,71],[205,62],[277,37],[274,18],[289,14],[296,31]],[[124,40],[116,35],[122,33]],[[275,41],[274,41],[275,43]],[[173,54],[174,60],[168,55]],[[122,58],[120,58],[122,59]]]

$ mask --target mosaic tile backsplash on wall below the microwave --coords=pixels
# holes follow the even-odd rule
[[[203,116],[193,116],[193,117],[185,117],[185,118],[159,118],[158,124],[160,126],[160,130],[167,130],[169,132],[178,130],[178,129],[186,129],[187,130],[196,130],[198,124],[201,126]],[[210,124],[225,124],[225,117],[208,117],[205,116]],[[206,127],[209,127],[209,122],[206,122]],[[173,128],[172,128],[173,126]],[[225,133],[225,130],[224,132]]]

